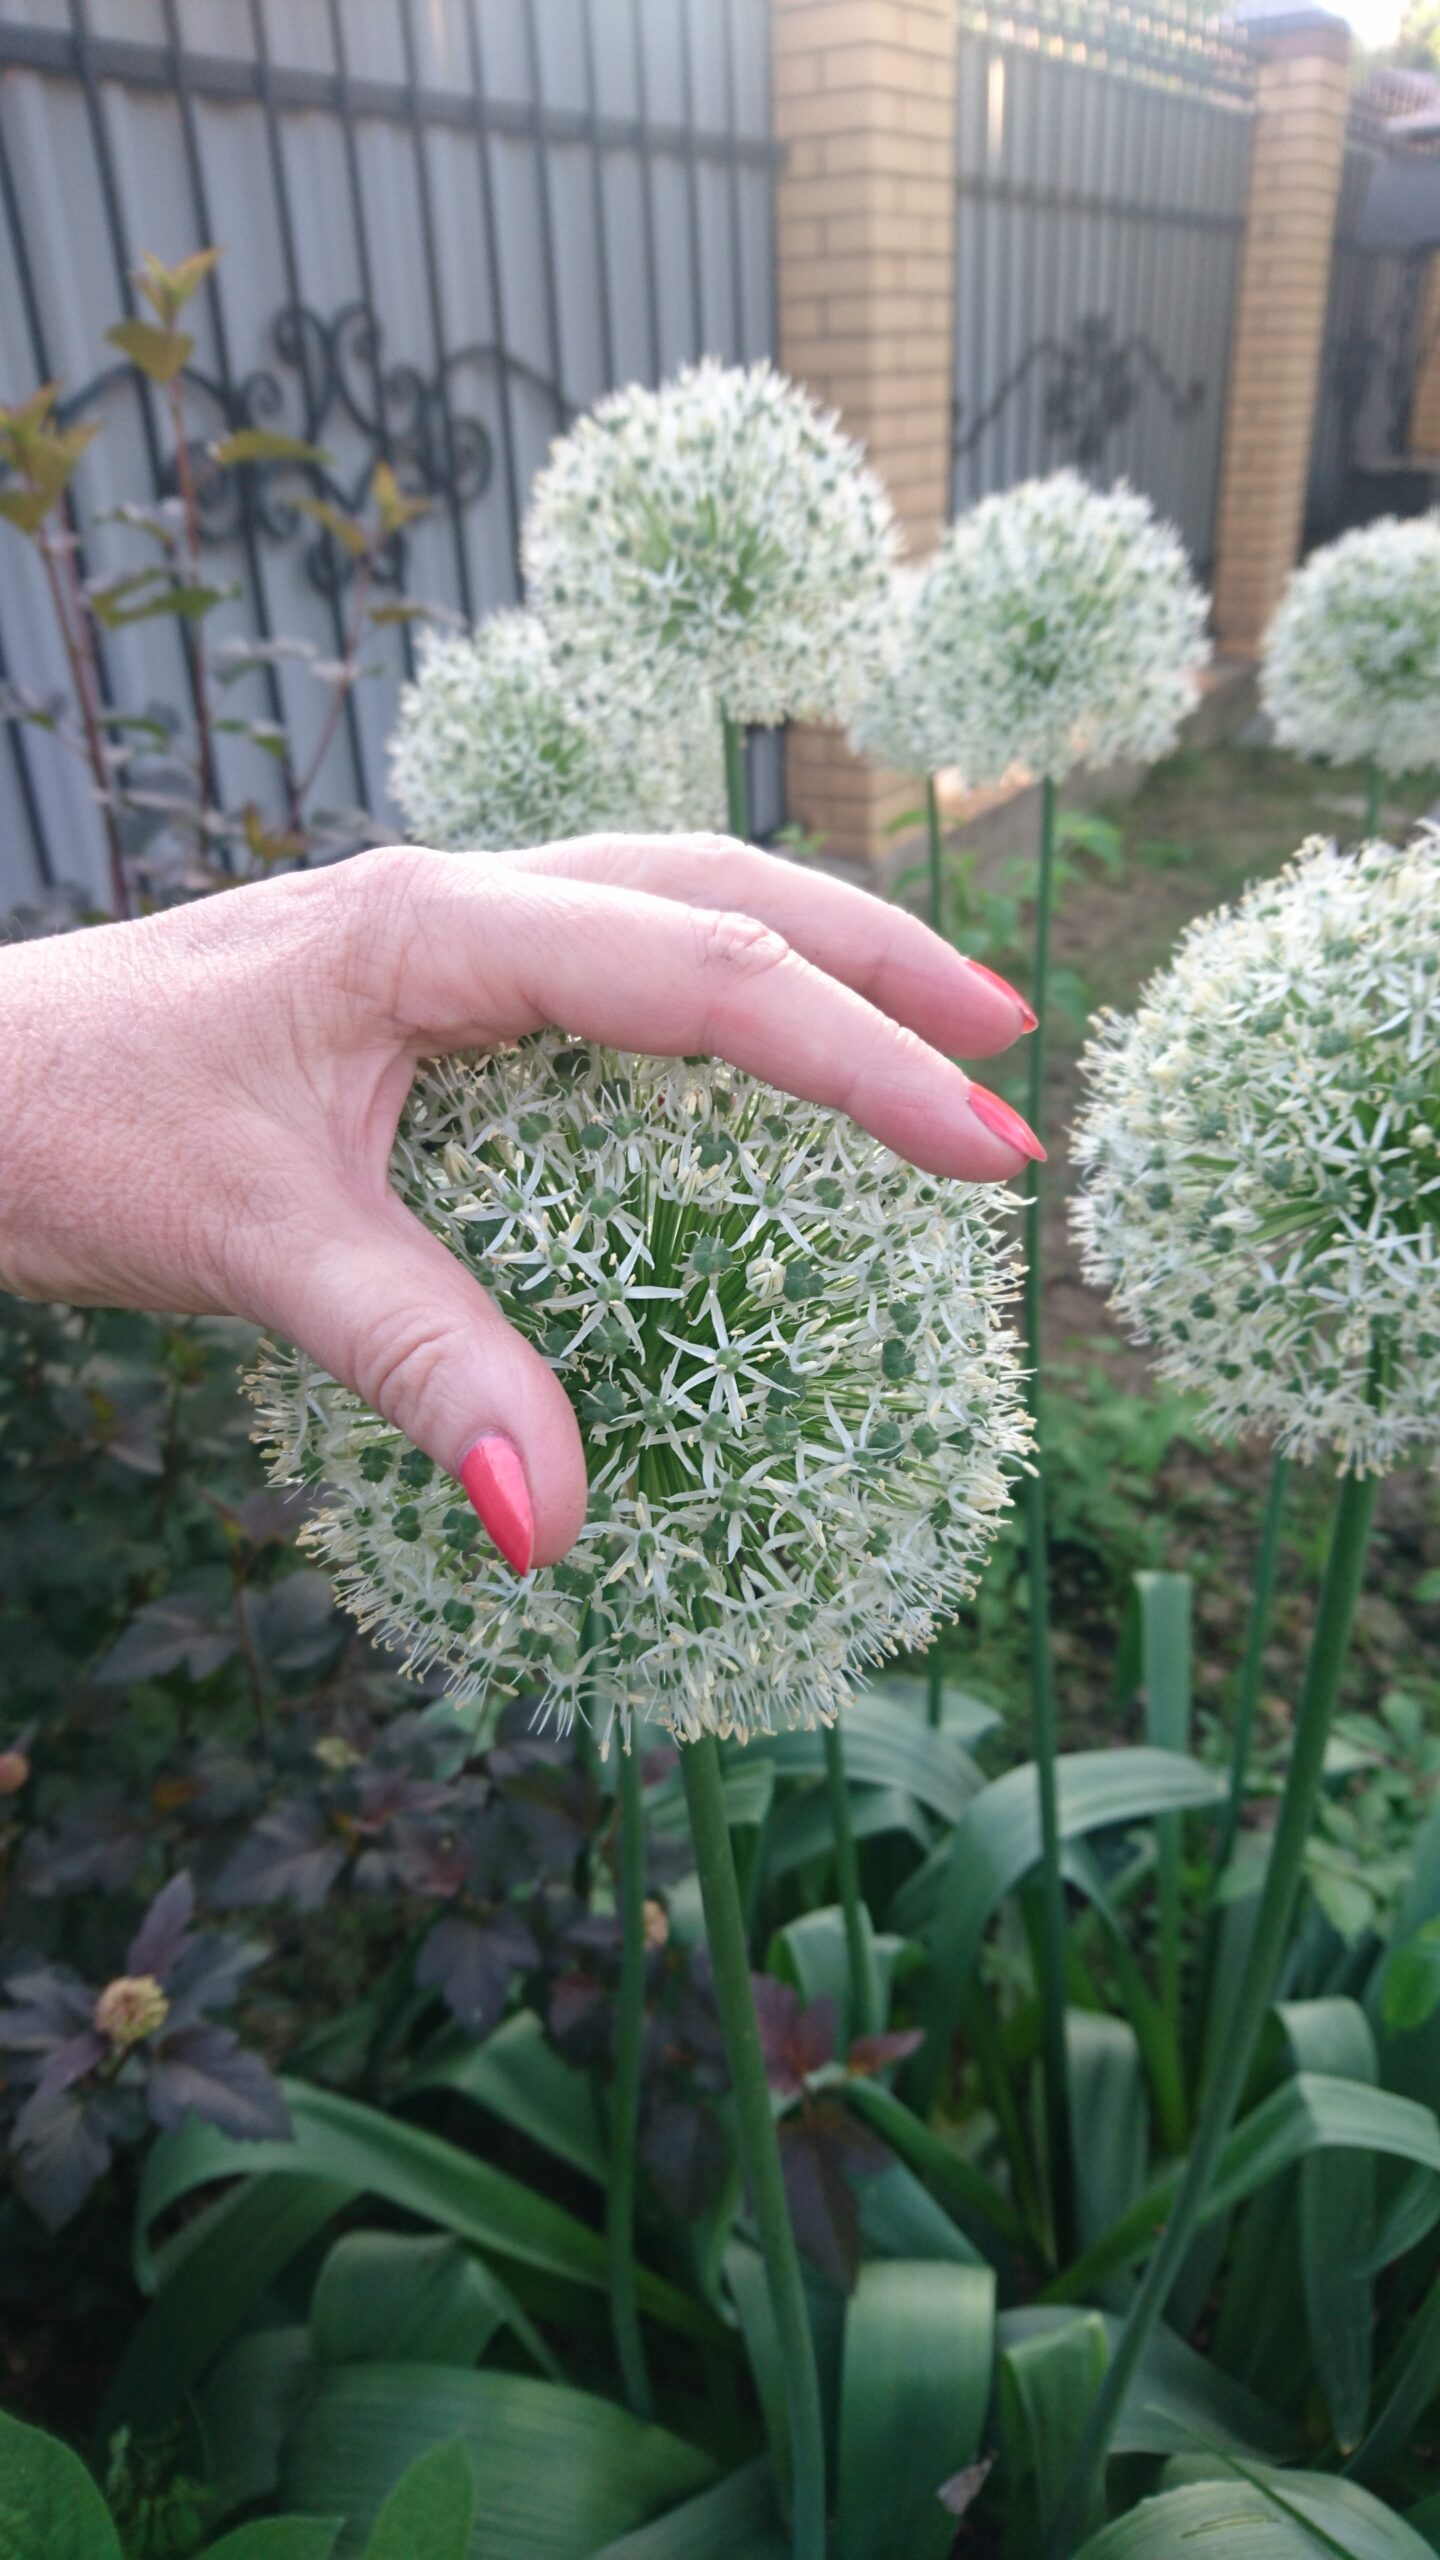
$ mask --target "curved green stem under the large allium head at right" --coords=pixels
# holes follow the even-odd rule
[[[1176,2276],[1189,2258],[1189,2248],[1204,2212],[1204,2199],[1215,2181],[1215,2166],[1245,2094],[1266,2017],[1281,1981],[1304,1874],[1304,1843],[1309,1841],[1314,1802],[1325,1774],[1325,1743],[1330,1738],[1330,1720],[1335,1715],[1335,1700],[1345,1672],[1350,1620],[1355,1615],[1355,1600],[1366,1572],[1373,1508],[1376,1477],[1345,1475],[1335,1500],[1335,1523],[1330,1531],[1330,1554],[1325,1559],[1325,1582],[1320,1587],[1320,1610],[1314,1618],[1314,1636],[1309,1641],[1309,1661],[1304,1667],[1304,1690],[1294,1720],[1281,1818],[1276,1823],[1266,1866],[1266,1887],[1261,1894],[1250,1964],[1235,2002],[1230,2033],[1199,2109],[1176,2202],[1161,2232],[1161,2245],[1145,2268],[1115,2355],[1109,2358],[1104,2383],[1099,2386],[1099,2396],[1089,2414],[1089,2424],[1056,2514],[1056,2524],[1045,2542],[1045,2560],[1068,2560],[1081,2519],[1089,2514],[1092,2483],[1099,2478],[1109,2452],[1120,2404],[1161,2322]]]

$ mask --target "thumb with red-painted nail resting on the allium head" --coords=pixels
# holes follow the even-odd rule
[[[266,1321],[459,1477],[500,1554],[553,1564],[584,1521],[579,1423],[495,1298],[387,1193],[325,1185]]]

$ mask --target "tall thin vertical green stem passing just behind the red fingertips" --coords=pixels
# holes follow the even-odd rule
[[[1045,996],[1051,983],[1051,911],[1056,904],[1056,786],[1040,783],[1040,878],[1035,883],[1035,957],[1030,1004],[1038,1027],[1030,1034],[1030,1126],[1040,1134],[1045,1106]],[[1040,2053],[1045,2068],[1045,2156],[1051,2171],[1051,2209],[1056,2250],[1071,2250],[1071,2089],[1066,2056],[1066,1884],[1061,1874],[1061,1787],[1056,1774],[1056,1674],[1051,1659],[1051,1541],[1045,1531],[1045,1475],[1040,1431],[1040,1354],[1043,1354],[1043,1270],[1040,1270],[1040,1167],[1025,1175],[1025,1362],[1030,1426],[1035,1434],[1035,1475],[1025,1477],[1025,1574],[1030,1587],[1030,1715],[1035,1736],[1035,1777],[1040,1792]]]

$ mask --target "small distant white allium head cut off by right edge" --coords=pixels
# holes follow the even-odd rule
[[[1261,701],[1281,748],[1381,773],[1440,765],[1440,522],[1345,532],[1289,581]]]

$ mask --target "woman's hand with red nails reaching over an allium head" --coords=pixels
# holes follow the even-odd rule
[[[943,1052],[1030,1019],[915,916],[725,837],[366,852],[0,952],[0,1285],[284,1334],[548,1564],[584,1521],[579,1431],[389,1190],[418,1060],[541,1024],[712,1052],[994,1183],[1040,1147]]]

